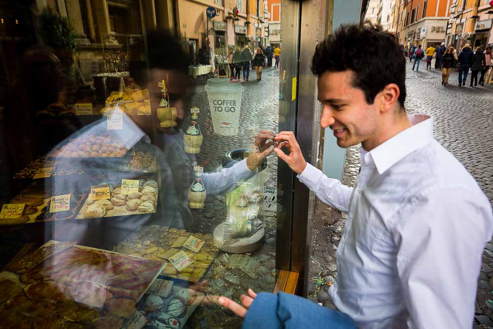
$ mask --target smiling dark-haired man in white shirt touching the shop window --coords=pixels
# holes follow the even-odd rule
[[[339,312],[282,293],[249,291],[242,298],[248,311],[220,301],[246,314],[246,328],[267,328],[266,317],[276,321],[271,328],[295,328],[307,317],[312,328],[352,328],[348,315],[358,328],[471,328],[492,209],[433,138],[433,118],[406,114],[405,58],[394,36],[344,26],[317,46],[312,70],[321,126],[341,147],[361,143],[356,185],[307,164],[292,132],[279,133],[275,152],[318,198],[348,214],[329,289]]]

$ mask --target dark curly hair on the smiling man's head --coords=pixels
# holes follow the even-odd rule
[[[314,74],[346,70],[354,73],[352,85],[365,93],[368,104],[373,104],[387,84],[395,83],[404,108],[406,60],[395,37],[380,25],[343,25],[317,45],[312,60]]]

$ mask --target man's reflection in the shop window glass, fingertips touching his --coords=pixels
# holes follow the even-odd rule
[[[70,181],[69,178],[56,177],[53,180],[54,186],[50,186],[50,189],[63,194],[70,188],[88,189],[91,185],[96,184],[107,183],[114,188],[120,184],[122,178],[141,178],[142,174],[138,172],[118,172],[117,168],[112,168],[108,158],[102,157],[102,155],[95,154],[91,161],[87,161],[84,159],[84,155],[93,156],[92,152],[89,152],[89,155],[79,154],[79,152],[85,151],[79,150],[81,147],[79,138],[90,139],[89,135],[111,134],[120,141],[121,149],[131,150],[134,147],[136,150],[144,149],[155,155],[159,169],[155,178],[159,190],[156,212],[140,214],[139,216],[112,217],[108,220],[56,221],[54,222],[53,235],[57,240],[79,241],[81,244],[91,245],[100,245],[102,242],[95,243],[94,241],[101,240],[110,246],[111,243],[121,241],[123,237],[141,225],[157,224],[179,229],[189,229],[192,225],[193,218],[189,208],[188,190],[195,177],[193,167],[197,166],[197,160],[195,154],[185,153],[184,133],[181,129],[186,117],[185,113],[193,106],[193,104],[189,104],[191,98],[188,80],[189,62],[180,43],[170,34],[151,32],[147,35],[147,40],[150,70],[148,72],[131,72],[131,75],[137,84],[149,90],[150,107],[153,109],[152,116],[122,113],[123,129],[111,131],[106,130],[106,118],[103,118],[85,127],[83,131],[79,131],[78,134],[75,134],[77,136],[71,136],[70,139],[62,142],[57,147],[58,149],[60,146],[69,145],[70,151],[76,152],[75,155],[70,153],[71,157],[65,158],[64,161],[69,161],[74,167],[84,167],[89,162],[92,163],[93,168],[88,168],[87,175],[93,181],[87,181],[87,175],[84,176],[84,179],[72,178],[75,181]],[[159,107],[161,100],[161,87],[158,86],[158,82],[163,79],[167,81],[170,107],[176,108],[177,125],[173,128],[161,128],[155,114],[155,109]],[[114,105],[115,108],[125,108],[125,102]],[[113,110],[113,112],[106,114],[112,117],[118,115],[117,113],[119,110]],[[272,141],[267,143],[267,140],[273,138],[272,132],[261,131],[256,142],[259,146],[259,152],[251,153],[248,159],[220,172],[203,174],[202,181],[207,193],[209,195],[226,193],[235,189],[238,181],[251,178],[257,172],[257,167],[262,163],[263,158],[272,152],[270,146],[274,143]],[[106,170],[99,170],[99,168],[106,168]]]

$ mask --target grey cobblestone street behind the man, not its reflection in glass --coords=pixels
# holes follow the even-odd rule
[[[423,70],[425,67],[422,61]],[[411,71],[407,66],[408,113],[423,112],[434,117],[435,138],[447,148],[476,179],[485,194],[493,203],[493,87],[469,87],[470,73],[466,87],[458,87],[458,73],[453,72],[448,86],[441,85],[440,71]],[[360,166],[359,146],[350,147],[346,152],[344,184],[353,186]],[[335,254],[346,217],[332,210],[334,220],[322,227],[314,227],[316,234],[313,243],[313,260],[310,264],[310,278],[318,276],[321,265],[321,277],[325,281],[333,280],[337,275]],[[467,225],[464,219],[464,225]],[[478,282],[475,327],[493,328],[493,241],[487,244],[483,254],[483,268]],[[446,278],[444,278],[446,280]],[[328,285],[320,286],[317,297],[315,281],[309,283],[309,298],[333,307],[326,293]],[[453,289],[453,287],[451,287]],[[453,303],[454,301],[444,301]]]

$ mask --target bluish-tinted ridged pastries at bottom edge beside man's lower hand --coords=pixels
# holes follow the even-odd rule
[[[164,297],[153,293],[146,293],[136,306],[137,310],[143,312],[143,316],[147,319],[145,328],[183,328],[204,298],[204,293],[181,287],[172,281],[161,281],[173,285],[175,294],[178,293],[182,296],[193,295],[194,298],[193,300],[189,300],[189,304],[186,304],[173,294]],[[181,293],[182,291],[186,291],[186,293]]]

